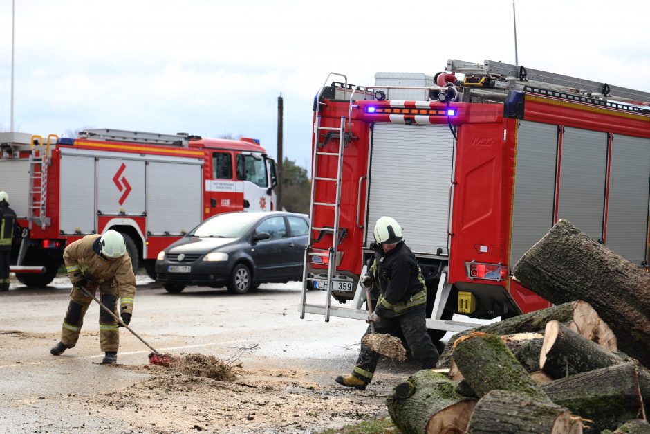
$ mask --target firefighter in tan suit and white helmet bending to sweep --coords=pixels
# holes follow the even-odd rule
[[[136,294],[136,276],[133,275],[131,257],[122,234],[107,230],[104,235],[86,235],[69,246],[63,253],[68,277],[73,284],[70,304],[63,321],[61,341],[50,350],[55,356],[63,354],[77,344],[84,323],[86,309],[93,298],[86,296],[82,287],[91,294],[100,289],[100,299],[115,315],[118,297],[120,315],[125,324],[131,322],[133,296]],[[120,333],[118,322],[100,309],[100,345],[106,356],[104,364],[117,363]]]

